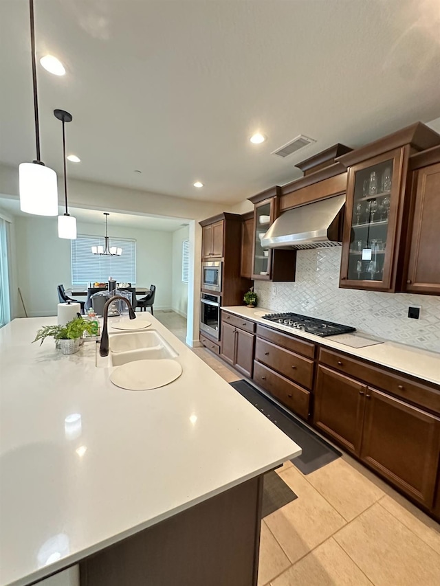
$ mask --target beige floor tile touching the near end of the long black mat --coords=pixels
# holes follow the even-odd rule
[[[308,474],[306,479],[347,521],[384,496],[380,488],[342,458]]]

